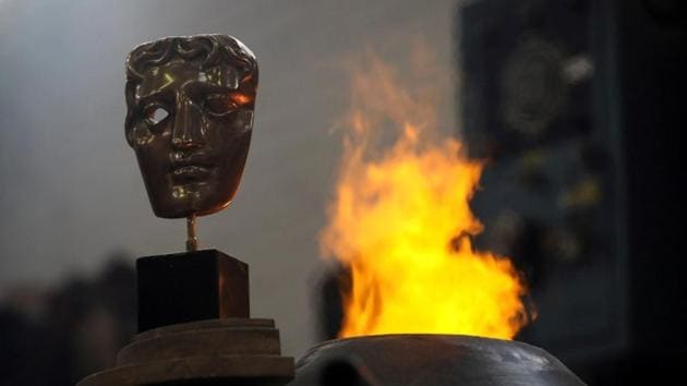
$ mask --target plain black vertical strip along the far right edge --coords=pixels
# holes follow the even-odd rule
[[[686,172],[679,156],[687,104],[686,4],[617,5],[632,337],[639,352],[677,354],[687,342]]]

